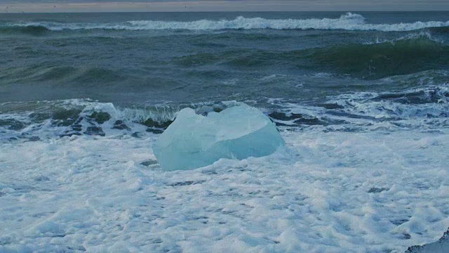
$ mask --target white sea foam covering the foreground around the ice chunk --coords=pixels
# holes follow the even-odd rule
[[[151,136],[2,143],[0,252],[404,252],[448,228],[448,129],[283,138],[170,173]]]

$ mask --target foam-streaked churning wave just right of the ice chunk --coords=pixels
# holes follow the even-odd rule
[[[449,126],[449,84],[400,91],[354,92],[329,96],[321,103],[298,105],[272,100],[281,108],[269,113],[288,129],[321,127],[324,131],[395,131]]]

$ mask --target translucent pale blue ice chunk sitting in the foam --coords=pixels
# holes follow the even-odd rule
[[[167,171],[194,169],[221,158],[243,160],[274,153],[284,141],[262,112],[248,105],[196,115],[181,110],[154,144],[154,155]]]

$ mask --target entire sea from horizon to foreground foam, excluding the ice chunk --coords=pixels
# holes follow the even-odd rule
[[[287,149],[163,172],[185,107]],[[449,13],[0,15],[0,252],[404,252],[449,227]]]

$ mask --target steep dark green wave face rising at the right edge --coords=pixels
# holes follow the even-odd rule
[[[449,46],[426,34],[377,44],[326,46],[296,53],[337,74],[361,79],[441,70],[449,64]]]

